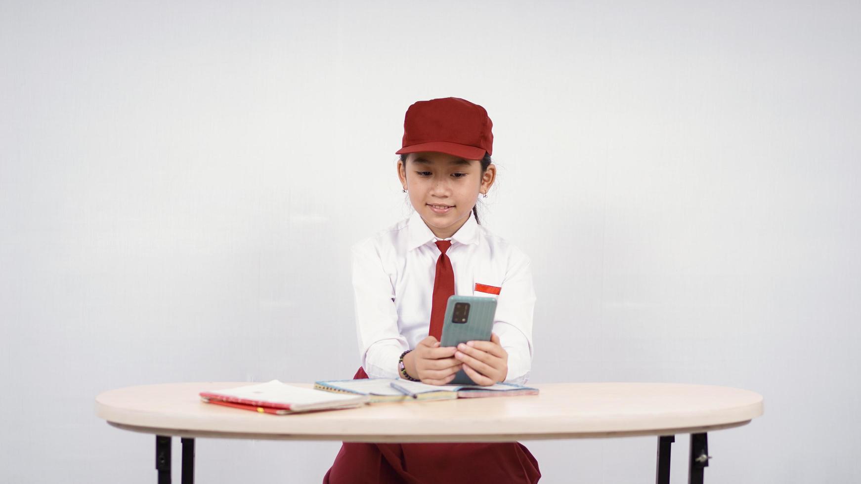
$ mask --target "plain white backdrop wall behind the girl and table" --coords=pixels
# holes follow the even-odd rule
[[[351,377],[350,244],[409,215],[404,113],[449,95],[534,262],[531,383],[752,389],[707,481],[858,481],[859,15],[3,1],[0,481],[154,481],[107,389]],[[542,482],[653,481],[656,438],[526,444]],[[196,474],[319,482],[339,445],[199,439]]]

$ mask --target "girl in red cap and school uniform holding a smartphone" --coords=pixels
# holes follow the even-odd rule
[[[406,111],[398,178],[415,212],[352,248],[362,367],[354,378],[446,384],[525,383],[532,359],[530,260],[480,226],[475,204],[496,177],[484,107],[448,97]],[[441,347],[449,296],[498,297],[490,341]],[[344,443],[324,484],[534,483],[538,463],[519,443]]]

